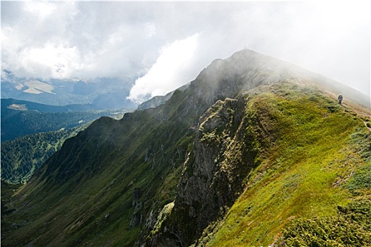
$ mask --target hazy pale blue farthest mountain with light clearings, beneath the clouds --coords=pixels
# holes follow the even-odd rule
[[[1,73],[1,98],[41,104],[95,104],[99,109],[134,108],[126,100],[134,78],[97,78],[94,80],[41,80],[17,78],[11,71]]]

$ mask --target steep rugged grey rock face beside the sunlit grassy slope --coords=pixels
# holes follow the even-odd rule
[[[258,157],[263,155],[259,149],[264,145],[259,141],[261,129],[251,129],[258,126],[257,119],[245,107],[244,97],[218,100],[201,116],[175,206],[163,223],[166,229],[151,236],[147,246],[189,246],[242,193],[249,171],[259,165]]]

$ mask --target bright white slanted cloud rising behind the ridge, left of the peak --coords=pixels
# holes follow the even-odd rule
[[[146,75],[135,81],[127,98],[140,103],[156,95],[165,95],[188,83],[194,76],[188,72],[198,38],[199,34],[195,34],[163,47],[155,64]]]

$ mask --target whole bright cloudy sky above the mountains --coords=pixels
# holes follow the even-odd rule
[[[143,102],[247,48],[370,95],[367,1],[1,1],[1,68],[135,78]]]

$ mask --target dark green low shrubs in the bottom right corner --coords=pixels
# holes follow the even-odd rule
[[[371,201],[355,200],[335,216],[290,222],[279,246],[370,246],[370,231]]]

